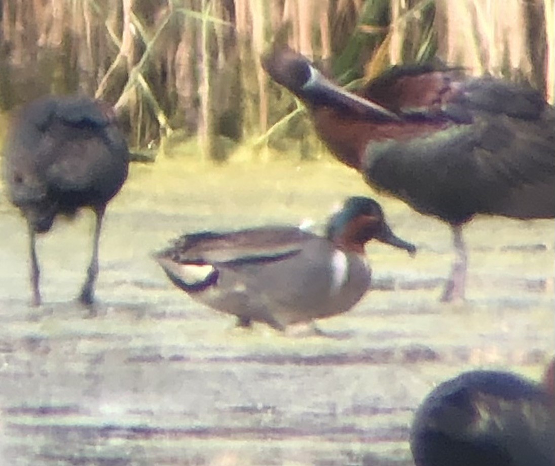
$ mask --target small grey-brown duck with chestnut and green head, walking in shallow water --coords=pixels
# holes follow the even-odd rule
[[[191,298],[274,329],[348,311],[370,286],[364,245],[376,239],[412,255],[377,202],[350,197],[321,237],[293,226],[181,236],[155,257]]]

